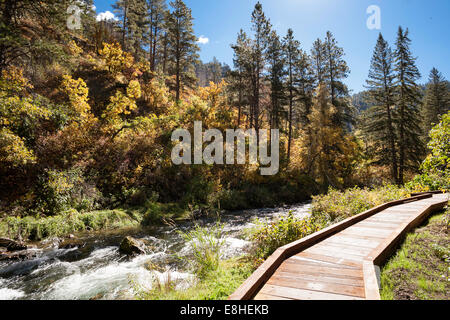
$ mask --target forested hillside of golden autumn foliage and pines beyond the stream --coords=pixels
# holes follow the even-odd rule
[[[80,29],[67,25],[70,5],[81,8]],[[380,34],[370,70],[350,70],[332,31],[306,51],[258,3],[230,67],[199,60],[195,13],[182,0],[119,0],[117,21],[96,21],[92,5],[0,3],[0,219],[149,203],[239,209],[329,187],[402,185],[420,173],[429,132],[449,112],[437,69],[421,90],[429,70],[418,70],[405,27],[392,44]],[[350,72],[368,74],[353,99]],[[279,129],[279,173],[174,165],[171,134],[196,120],[204,129]],[[431,180],[422,168],[415,185],[448,187],[442,161],[430,165],[440,166]]]

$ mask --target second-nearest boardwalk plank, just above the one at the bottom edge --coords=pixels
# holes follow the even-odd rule
[[[329,282],[321,282],[318,279],[314,281],[308,281],[304,279],[294,279],[294,278],[285,278],[285,277],[279,277],[275,273],[269,281],[267,281],[267,284],[280,286],[280,287],[287,287],[287,288],[297,288],[297,289],[305,289],[305,290],[313,290],[313,291],[321,291],[321,292],[327,292],[327,293],[336,293],[336,294],[343,294],[347,296],[355,296],[355,297],[361,297],[363,298],[365,296],[364,287],[356,287],[356,286],[349,286],[345,284],[336,284],[336,283],[329,283]]]

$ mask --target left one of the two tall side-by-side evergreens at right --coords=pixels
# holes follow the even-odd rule
[[[380,33],[366,81],[371,103],[375,106],[365,113],[367,120],[363,130],[371,142],[376,163],[390,165],[392,179],[399,183],[392,59],[392,51]]]

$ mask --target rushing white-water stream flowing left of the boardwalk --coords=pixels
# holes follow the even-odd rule
[[[249,243],[242,231],[251,227],[256,218],[270,221],[290,210],[296,217],[304,218],[309,209],[309,204],[300,204],[223,214],[223,258],[245,252]],[[214,223],[213,219],[200,221],[205,226]],[[188,231],[192,226],[186,222],[177,228]],[[0,300],[130,299],[133,298],[132,283],[149,288],[155,277],[160,283],[170,278],[179,287],[188,286],[194,278],[186,271],[187,259],[183,257],[189,257],[190,246],[176,231],[177,228],[160,226],[146,230],[82,234],[78,235],[76,246],[66,248],[58,248],[58,243],[52,243],[52,240],[44,242],[35,249],[33,259],[0,262]],[[151,253],[135,258],[121,255],[118,246],[125,235],[145,241]]]

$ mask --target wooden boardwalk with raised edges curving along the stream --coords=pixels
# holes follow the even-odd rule
[[[447,202],[448,194],[418,194],[281,247],[229,299],[379,300],[377,266]]]

